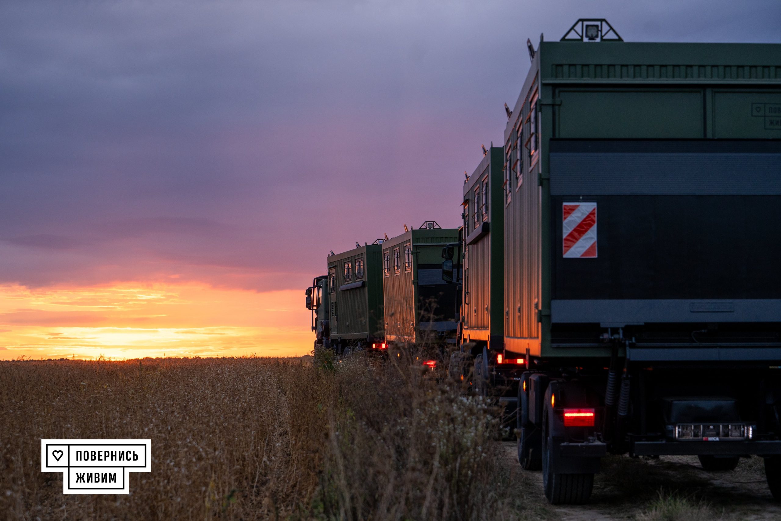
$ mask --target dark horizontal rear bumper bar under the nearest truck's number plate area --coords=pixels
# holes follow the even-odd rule
[[[629,453],[663,455],[779,455],[781,441],[633,441]]]

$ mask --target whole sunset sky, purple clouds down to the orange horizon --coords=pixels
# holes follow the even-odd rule
[[[781,41],[778,0],[0,2],[0,359],[305,354],[327,252],[457,226],[579,16]]]

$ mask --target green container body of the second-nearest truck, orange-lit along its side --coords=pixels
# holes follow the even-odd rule
[[[504,148],[490,147],[464,184],[462,341],[501,350],[505,333]]]

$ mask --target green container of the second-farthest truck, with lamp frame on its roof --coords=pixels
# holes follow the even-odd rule
[[[442,248],[458,243],[458,229],[426,221],[383,242],[387,341],[455,344],[457,284],[442,278]]]

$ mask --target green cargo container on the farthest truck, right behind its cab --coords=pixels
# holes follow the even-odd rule
[[[379,240],[328,256],[330,346],[338,353],[384,341],[382,273]]]

